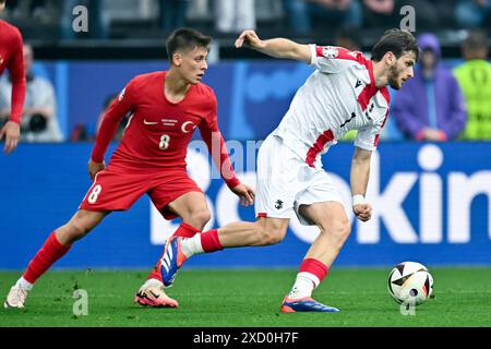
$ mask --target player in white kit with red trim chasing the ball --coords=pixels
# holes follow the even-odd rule
[[[194,254],[280,242],[295,213],[302,224],[315,225],[321,232],[307,252],[282,311],[337,312],[311,298],[351,230],[342,198],[322,168],[321,154],[349,130],[358,130],[350,171],[352,210],[358,219],[369,220],[372,207],[364,194],[370,158],[388,115],[387,85],[399,89],[414,76],[418,44],[409,32],[391,29],[373,47],[371,59],[340,47],[300,45],[285,38],[262,40],[253,31],[243,32],[236,47],[244,44],[316,70],[260,148],[258,220],[233,222],[190,239],[169,239],[161,260],[164,284],[170,286],[177,270]]]

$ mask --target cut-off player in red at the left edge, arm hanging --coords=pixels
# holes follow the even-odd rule
[[[0,12],[5,0],[0,0]],[[10,120],[0,129],[0,141],[5,137],[3,152],[10,154],[17,146],[21,136],[21,116],[25,99],[24,56],[21,32],[0,20],[0,75],[5,68],[12,77],[12,112]]]

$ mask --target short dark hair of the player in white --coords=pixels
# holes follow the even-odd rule
[[[414,52],[416,56],[416,61],[418,61],[418,41],[409,31],[386,31],[372,48],[372,60],[380,62],[387,52],[393,52],[397,59],[404,53]]]

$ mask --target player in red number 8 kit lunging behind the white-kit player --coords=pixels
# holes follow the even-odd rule
[[[217,124],[217,101],[213,89],[201,83],[207,69],[211,37],[181,28],[170,35],[167,51],[170,69],[134,77],[111,104],[104,117],[88,160],[94,183],[79,210],[56,229],[11,288],[5,306],[23,308],[27,292],[73,242],[94,229],[109,213],[125,210],[143,194],[167,219],[181,217],[175,232],[193,237],[209,219],[205,195],[185,171],[188,144],[200,129],[208,151],[229,189],[246,206],[254,192],[233,172]],[[129,120],[123,139],[108,166],[104,155],[121,119]],[[212,146],[213,144],[213,146]],[[218,149],[214,149],[219,144]],[[135,297],[142,305],[178,306],[164,292],[157,265]]]

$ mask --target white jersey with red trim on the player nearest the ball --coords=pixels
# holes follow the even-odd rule
[[[322,167],[320,154],[349,130],[358,130],[356,146],[374,151],[390,95],[386,87],[375,86],[372,61],[340,47],[310,47],[316,70],[298,89],[273,134],[311,167]]]

